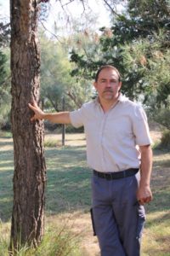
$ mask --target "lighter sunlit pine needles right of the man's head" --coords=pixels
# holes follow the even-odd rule
[[[150,97],[155,98],[155,108],[166,108],[169,105],[170,51],[166,44],[164,32],[160,31],[149,39],[141,39],[131,44],[125,44],[123,49],[123,64],[130,72],[138,77],[135,84],[134,96],[143,94],[144,103],[150,105]],[[129,72],[128,72],[129,73]],[[127,75],[128,75],[127,73]]]

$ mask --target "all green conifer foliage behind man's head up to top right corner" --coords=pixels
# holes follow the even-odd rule
[[[77,64],[72,75],[93,78],[100,65],[115,65],[123,74],[122,91],[130,98],[150,104],[155,96],[157,108],[169,104],[169,1],[128,1],[126,15],[103,34],[94,50],[73,49],[71,61]],[[90,56],[90,58],[88,57]],[[142,96],[142,97],[141,97]]]

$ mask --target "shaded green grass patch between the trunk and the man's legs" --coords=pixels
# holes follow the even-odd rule
[[[48,214],[89,210],[91,203],[91,171],[83,167],[49,171],[46,209]]]

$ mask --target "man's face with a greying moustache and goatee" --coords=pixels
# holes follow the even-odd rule
[[[122,82],[119,82],[119,76],[114,69],[104,68],[99,73],[94,87],[98,91],[99,99],[105,102],[114,102],[118,97]]]

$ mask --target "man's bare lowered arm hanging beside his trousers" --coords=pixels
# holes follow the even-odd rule
[[[139,146],[141,152],[140,165],[140,182],[137,192],[137,199],[140,204],[148,203],[152,200],[152,193],[150,190],[150,176],[152,170],[152,149],[150,145]]]

